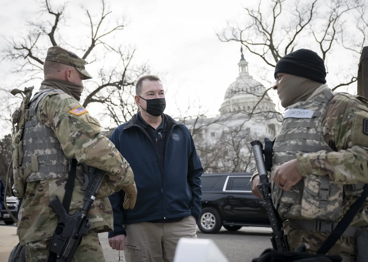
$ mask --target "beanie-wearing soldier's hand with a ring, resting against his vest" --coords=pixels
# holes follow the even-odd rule
[[[297,160],[293,159],[280,165],[272,180],[279,188],[289,191],[291,186],[297,184],[302,178],[297,170]]]

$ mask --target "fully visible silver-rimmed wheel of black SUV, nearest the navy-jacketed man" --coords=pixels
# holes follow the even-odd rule
[[[198,221],[198,228],[205,234],[216,234],[222,227],[222,219],[219,211],[213,207],[202,209],[201,217]]]

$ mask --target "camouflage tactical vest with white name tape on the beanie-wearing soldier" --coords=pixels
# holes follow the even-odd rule
[[[277,167],[295,159],[297,153],[334,151],[323,139],[322,120],[336,94],[325,89],[309,101],[297,102],[286,108],[273,145],[272,177]],[[290,191],[283,191],[272,181],[272,200],[281,219],[338,221],[344,215],[345,196],[359,196],[363,187],[364,184],[336,185],[331,183],[328,175],[308,174]]]

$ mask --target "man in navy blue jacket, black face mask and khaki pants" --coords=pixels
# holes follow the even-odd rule
[[[125,250],[127,262],[172,262],[179,238],[197,238],[203,168],[188,128],[163,113],[160,78],[141,77],[135,93],[140,112],[110,140],[134,172],[137,201],[125,210],[123,191],[109,196],[114,216],[109,244]]]

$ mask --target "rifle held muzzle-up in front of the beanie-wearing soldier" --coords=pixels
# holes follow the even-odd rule
[[[265,144],[272,141],[269,138],[265,138]],[[259,179],[261,184],[257,185],[259,192],[263,196],[265,203],[263,207],[266,209],[268,218],[271,223],[272,233],[271,233],[271,243],[273,249],[280,252],[290,251],[289,242],[287,241],[287,236],[284,235],[282,230],[282,221],[279,214],[277,213],[275,207],[273,207],[271,198],[271,183],[268,181],[267,169],[265,161],[263,160],[263,145],[259,140],[254,140],[251,142],[255,163],[258,170]],[[266,149],[266,146],[265,146]]]

